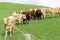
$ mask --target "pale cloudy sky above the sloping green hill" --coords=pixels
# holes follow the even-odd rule
[[[41,6],[48,6],[53,8],[60,7],[60,0],[0,0],[0,2],[41,5]]]

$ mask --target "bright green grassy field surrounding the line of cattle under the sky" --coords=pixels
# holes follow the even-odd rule
[[[4,40],[4,25],[2,18],[8,17],[10,12],[19,10],[29,10],[43,6],[33,6],[25,4],[0,3],[0,40]],[[25,40],[22,32],[30,33],[33,40],[60,40],[60,18],[49,18],[46,15],[44,20],[31,20],[30,24],[15,25],[15,33],[7,40]]]

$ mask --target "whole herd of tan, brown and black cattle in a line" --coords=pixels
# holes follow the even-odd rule
[[[53,18],[55,14],[60,16],[60,8],[33,8],[28,11],[11,12],[10,16],[3,18],[5,37],[7,37],[8,31],[10,32],[10,36],[12,36],[16,21],[21,25],[29,24],[30,19],[44,20],[46,14],[51,15]]]

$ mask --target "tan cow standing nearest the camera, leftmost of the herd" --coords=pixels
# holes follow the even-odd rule
[[[10,36],[12,36],[14,32],[15,21],[15,17],[13,16],[3,18],[3,22],[5,24],[5,37],[7,37],[8,32],[10,32]]]

